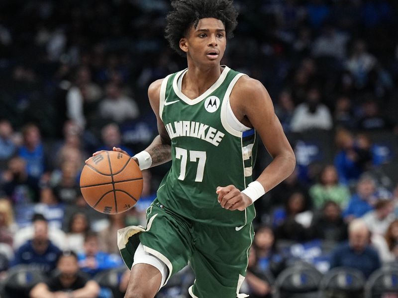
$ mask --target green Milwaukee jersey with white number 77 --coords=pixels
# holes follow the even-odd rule
[[[231,184],[242,191],[253,181],[256,132],[237,131],[227,121],[229,95],[244,74],[225,67],[207,91],[190,99],[178,87],[186,71],[170,74],[161,86],[159,114],[171,139],[172,166],[157,199],[182,217],[238,230],[253,220],[254,206],[225,210],[215,191]]]

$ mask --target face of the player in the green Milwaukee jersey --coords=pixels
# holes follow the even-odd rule
[[[226,47],[225,26],[215,18],[200,19],[198,26],[181,39],[180,47],[199,64],[219,65]]]

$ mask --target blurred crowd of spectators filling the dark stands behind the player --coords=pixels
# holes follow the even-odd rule
[[[242,292],[271,297],[297,259],[366,278],[397,262],[397,1],[234,2],[239,25],[222,63],[266,86],[298,161],[256,202]],[[132,155],[156,136],[147,87],[186,67],[163,38],[169,9],[168,0],[0,1],[0,276],[28,266],[50,277],[21,295],[125,290],[124,268],[111,292],[96,277],[124,266],[116,230],[145,225],[168,165],[144,171],[138,204],[114,216],[87,205],[79,178],[92,152]],[[254,172],[269,158],[260,150]],[[187,297],[193,278],[187,268],[159,297]]]

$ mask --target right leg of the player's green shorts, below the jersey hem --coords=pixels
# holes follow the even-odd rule
[[[248,250],[254,231],[251,224],[235,227],[202,226],[197,231],[197,250],[190,258],[196,275],[190,289],[194,298],[236,298],[246,275]]]

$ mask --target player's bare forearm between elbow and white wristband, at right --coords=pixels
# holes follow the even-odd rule
[[[266,192],[273,189],[292,174],[296,166],[293,151],[286,151],[274,157],[272,162],[264,169],[257,181],[261,183]]]

